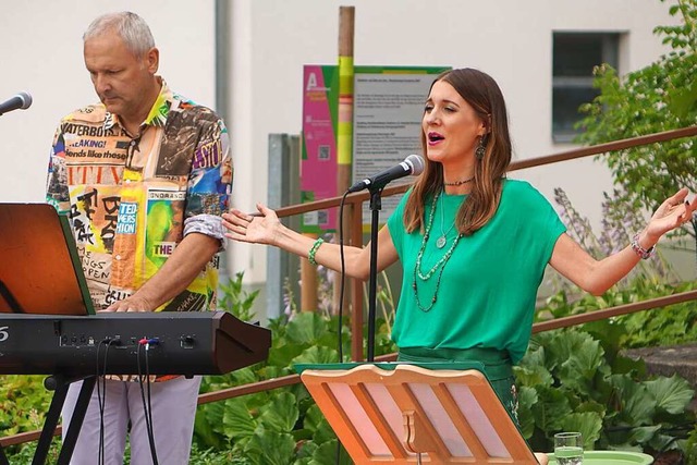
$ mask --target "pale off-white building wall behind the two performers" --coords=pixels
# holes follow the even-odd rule
[[[450,65],[491,74],[508,101],[515,159],[571,148],[551,138],[552,32],[620,32],[621,69],[641,68],[665,49],[652,34],[675,20],[659,0],[234,0],[230,3],[228,124],[235,160],[234,205],[267,196],[268,135],[297,134],[304,64],[334,64],[340,5],[355,7],[355,63]],[[161,50],[161,74],[175,90],[215,105],[215,0],[35,0],[0,15],[4,45],[0,99],[26,90],[34,105],[0,117],[0,201],[41,201],[56,124],[96,100],[82,59],[82,33],[98,14],[132,10]],[[592,160],[515,172],[548,198],[563,187],[599,224],[608,171]],[[266,249],[232,244],[233,271],[260,283]]]

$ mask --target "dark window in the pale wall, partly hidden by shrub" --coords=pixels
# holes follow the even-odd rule
[[[591,101],[592,69],[608,63],[617,69],[620,35],[616,33],[553,33],[552,139],[571,142],[579,133],[578,107]]]

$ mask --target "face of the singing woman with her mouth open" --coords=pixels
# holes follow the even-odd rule
[[[475,110],[444,81],[431,87],[421,127],[426,136],[426,156],[443,167],[473,162],[479,136],[486,133]]]

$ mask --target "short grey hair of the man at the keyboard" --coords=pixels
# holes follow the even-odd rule
[[[155,47],[150,27],[145,20],[130,11],[107,13],[97,17],[83,34],[83,41],[109,32],[119,34],[129,51],[136,57],[142,57]]]

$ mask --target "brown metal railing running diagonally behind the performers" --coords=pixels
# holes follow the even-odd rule
[[[689,126],[674,131],[665,131],[662,133],[650,134],[647,136],[633,137],[628,139],[615,140],[608,144],[599,144],[590,147],[582,147],[573,150],[567,150],[546,157],[538,157],[528,160],[515,161],[511,163],[510,171],[541,167],[545,164],[557,163],[560,161],[567,161],[577,158],[600,155],[612,150],[622,150],[625,148],[637,147],[641,145],[649,145],[665,140],[672,140],[682,137],[689,137],[697,135],[697,126]],[[394,187],[387,187],[382,195],[390,196],[406,192],[409,187],[408,184]],[[332,207],[339,207],[341,205],[342,197],[332,197],[323,200],[317,200],[303,205],[293,205],[289,207],[279,208],[276,210],[279,218],[292,217],[296,215],[303,215],[309,211],[322,210]],[[347,208],[350,211],[350,237],[348,244],[362,244],[363,242],[363,203],[369,200],[369,193],[356,193],[346,196],[345,205],[351,206]],[[358,334],[352,340],[352,359],[363,360],[363,326],[364,326],[364,308],[363,308],[363,286],[352,280],[351,302],[352,302],[352,319],[351,328],[353,334]],[[680,294],[668,295],[663,297],[647,299],[627,305],[621,305],[616,307],[606,308],[602,310],[596,310],[582,315],[573,315],[564,318],[558,318],[549,321],[538,322],[533,326],[533,332],[538,333],[542,331],[549,331],[553,329],[566,328],[571,326],[582,325],[590,321],[603,320],[619,315],[632,314],[635,311],[648,310],[651,308],[660,308],[668,305],[680,304],[684,302],[697,299],[697,291],[688,291]],[[389,354],[380,357],[376,357],[376,362],[392,362],[396,359],[396,354]],[[289,375],[281,378],[274,378],[270,380],[259,381],[255,383],[239,386],[229,388],[216,392],[208,392],[198,396],[198,404],[207,404],[210,402],[219,402],[228,399],[239,397],[242,395],[254,394],[257,392],[269,391],[286,386],[297,384],[301,382],[299,375]],[[60,435],[60,427],[57,428],[56,435]],[[0,438],[0,445],[2,448],[9,445],[21,444],[24,442],[38,440],[41,431],[28,431],[19,435],[8,436]]]

